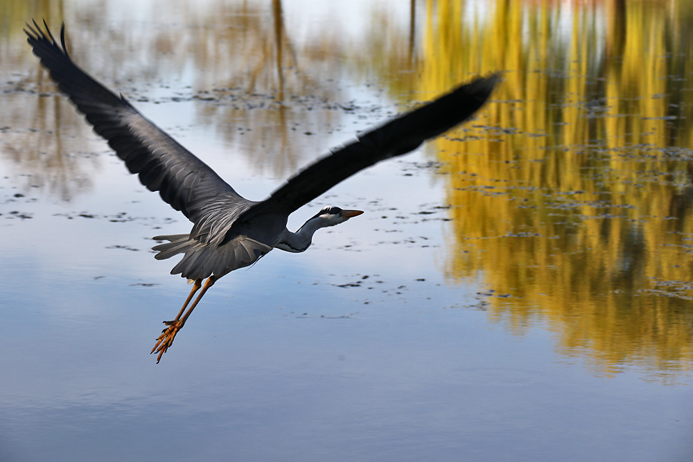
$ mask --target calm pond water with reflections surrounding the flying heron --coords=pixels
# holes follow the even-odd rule
[[[693,8],[529,3],[10,1],[0,461],[691,460]],[[190,224],[56,93],[31,17],[249,199],[505,80],[297,212],[366,211],[222,279],[157,365],[188,287],[150,238]]]

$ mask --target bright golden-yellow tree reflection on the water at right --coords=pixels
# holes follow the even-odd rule
[[[674,380],[693,359],[693,42],[677,33],[691,16],[676,2],[495,1],[471,17],[462,4],[426,2],[421,90],[496,69],[505,82],[471,128],[435,141],[448,279],[482,278],[492,319],[547,321],[602,373],[635,362]]]

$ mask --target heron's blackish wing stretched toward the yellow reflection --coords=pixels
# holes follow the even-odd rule
[[[358,141],[299,171],[268,199],[249,207],[239,220],[266,211],[292,213],[356,172],[414,150],[423,141],[450,130],[474,114],[489,98],[497,81],[495,74],[477,78],[359,136]]]

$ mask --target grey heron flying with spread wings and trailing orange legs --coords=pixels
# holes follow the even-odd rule
[[[65,46],[65,27],[58,43],[46,21],[24,29],[27,42],[49,70],[58,89],[85,115],[131,173],[149,190],[181,211],[191,222],[189,233],[157,236],[168,241],[153,247],[157,260],[182,254],[171,270],[193,281],[193,288],[173,321],[164,321],[152,353],[161,356],[173,344],[202,296],[234,269],[253,265],[272,249],[302,252],[320,228],[344,223],[363,213],[325,207],[292,233],[288,216],[340,181],[377,162],[401,156],[423,141],[438,136],[469,118],[489,98],[498,75],[476,78],[366,134],[299,170],[267,199],[245,199],[209,166],[151,123],[122,95],[101,85],[71,59]],[[206,280],[206,281],[205,281]],[[203,284],[204,281],[204,284]],[[202,290],[200,290],[202,289]],[[200,291],[193,301],[195,294]],[[191,304],[191,301],[193,303]],[[189,307],[188,307],[189,305]]]

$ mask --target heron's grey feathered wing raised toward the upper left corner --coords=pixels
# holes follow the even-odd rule
[[[51,73],[58,88],[69,96],[94,131],[103,136],[118,157],[139,180],[193,223],[209,214],[209,202],[249,203],[207,164],[179,145],[164,130],[148,121],[123,96],[116,96],[71,60],[65,48],[65,26],[60,44],[48,25],[33,21],[24,32],[41,64]]]

